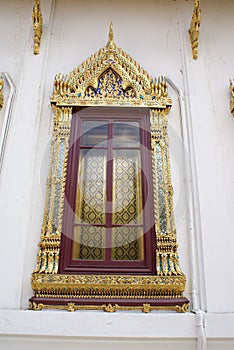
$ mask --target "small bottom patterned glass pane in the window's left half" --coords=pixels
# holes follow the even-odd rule
[[[104,260],[105,228],[95,226],[74,227],[72,258]]]

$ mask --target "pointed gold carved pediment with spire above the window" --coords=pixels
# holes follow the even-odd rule
[[[153,79],[130,55],[118,48],[112,25],[104,48],[69,75],[56,75],[51,102],[57,106],[171,106],[165,77]]]

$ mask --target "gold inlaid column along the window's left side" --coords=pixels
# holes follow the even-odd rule
[[[57,273],[72,108],[54,107],[54,130],[41,242],[34,273]]]

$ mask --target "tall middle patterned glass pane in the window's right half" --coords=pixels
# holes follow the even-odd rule
[[[114,224],[142,223],[142,184],[139,150],[113,151]]]

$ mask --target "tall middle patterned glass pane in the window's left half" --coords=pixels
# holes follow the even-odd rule
[[[105,223],[106,153],[105,149],[80,150],[75,223]]]

